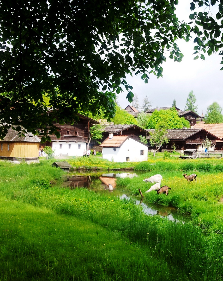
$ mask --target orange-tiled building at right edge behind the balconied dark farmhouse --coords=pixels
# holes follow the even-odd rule
[[[223,123],[219,124],[202,124],[198,123],[194,126],[194,129],[203,128],[209,133],[218,137],[216,139],[216,150],[223,150]],[[219,140],[220,139],[220,140]]]

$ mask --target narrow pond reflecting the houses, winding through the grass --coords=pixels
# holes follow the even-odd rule
[[[140,204],[142,206],[143,212],[147,215],[160,215],[162,217],[167,217],[171,221],[185,222],[190,220],[189,216],[180,214],[180,212],[174,207],[147,203],[145,198],[142,200],[140,196],[131,196],[130,192],[116,188],[116,178],[133,178],[139,174],[140,173],[126,173],[119,171],[117,171],[117,173],[95,172],[89,174],[68,174],[67,180],[62,183],[61,187],[68,187],[70,189],[86,188],[94,190],[95,192],[103,192],[108,194],[108,196],[110,192],[112,192],[123,200],[130,200],[133,198],[135,200],[135,204]]]

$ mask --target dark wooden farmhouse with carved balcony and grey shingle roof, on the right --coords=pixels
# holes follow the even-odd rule
[[[154,132],[155,130],[147,130],[148,133]],[[160,151],[173,151],[173,146],[175,145],[175,149],[178,151],[184,151],[186,149],[197,149],[197,151],[204,151],[205,147],[203,147],[202,142],[208,138],[211,140],[211,147],[209,151],[215,150],[216,139],[219,140],[218,137],[211,134],[207,130],[204,129],[167,129],[166,136],[170,140],[167,144],[164,144]],[[148,137],[150,140],[151,136]],[[151,147],[151,149],[155,149],[155,147]]]

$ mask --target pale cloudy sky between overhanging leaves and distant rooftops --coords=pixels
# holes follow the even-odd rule
[[[191,0],[179,0],[176,15],[179,20],[190,22],[189,15]],[[216,6],[216,7],[215,7]],[[217,5],[211,7],[214,14]],[[201,11],[204,11],[202,7]],[[207,11],[208,12],[208,11]],[[216,14],[216,13],[215,13]],[[136,93],[139,99],[139,105],[142,105],[143,98],[147,95],[151,102],[151,108],[172,106],[173,100],[176,100],[177,107],[184,110],[188,94],[193,90],[197,99],[195,105],[198,106],[197,113],[205,115],[207,107],[214,101],[223,108],[223,71],[220,71],[222,56],[218,54],[205,55],[205,61],[200,57],[193,60],[196,55],[193,47],[193,39],[186,43],[184,40],[178,40],[177,45],[184,54],[182,62],[174,62],[168,58],[166,53],[166,62],[162,64],[163,77],[157,79],[154,74],[149,75],[148,84],[141,79],[141,75],[126,76],[126,81],[133,87],[132,92]],[[121,108],[126,108],[130,103],[126,99],[127,92],[118,95],[118,103]]]

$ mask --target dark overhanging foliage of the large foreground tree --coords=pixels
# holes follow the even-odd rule
[[[197,2],[210,6],[216,1],[193,0],[191,10]],[[180,62],[176,40],[189,41],[191,32],[197,35],[196,52],[206,49],[210,55],[222,48],[217,22],[223,17],[222,1],[217,20],[207,12],[193,12],[192,29],[175,14],[178,0],[0,3],[0,137],[10,125],[33,133],[50,127],[53,132],[55,118],[72,122],[78,110],[95,115],[103,107],[111,118],[115,92],[127,89],[132,101],[126,74],[141,74],[145,83],[149,72],[159,78],[166,48]],[[54,114],[48,115],[43,95]]]

